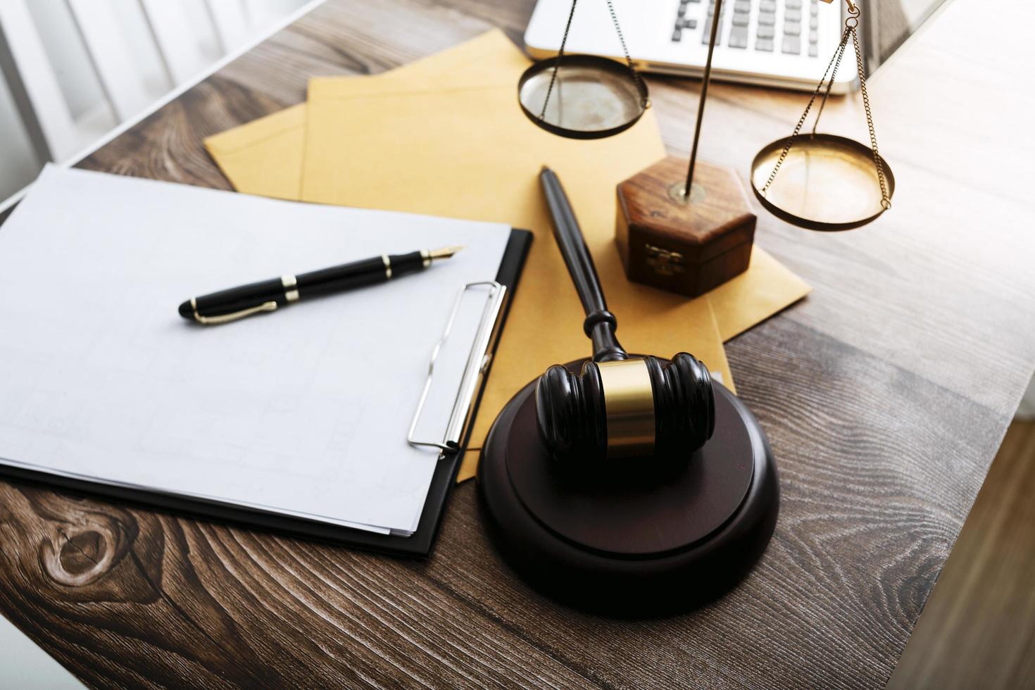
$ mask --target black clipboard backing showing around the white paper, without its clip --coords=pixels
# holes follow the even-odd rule
[[[432,476],[432,483],[427,489],[424,508],[420,514],[420,521],[416,531],[410,536],[377,534],[303,517],[263,512],[244,506],[209,501],[204,498],[108,484],[72,475],[53,474],[4,462],[0,462],[0,475],[77,493],[117,499],[147,508],[160,508],[187,517],[215,519],[242,527],[254,527],[279,534],[307,537],[395,556],[426,558],[435,546],[446,499],[455,483],[456,472],[464,456],[464,449],[471,437],[473,421],[481,402],[485,381],[489,378],[496,348],[499,346],[503,326],[510,311],[510,302],[518,288],[518,281],[525,267],[525,260],[531,244],[532,233],[527,230],[511,229],[510,238],[503,252],[503,260],[500,262],[500,268],[496,274],[496,282],[504,288],[504,297],[484,352],[476,391],[471,398],[469,409],[466,411],[466,423],[461,431],[463,441],[455,444],[456,447],[452,452],[444,451],[439,455],[435,473]]]

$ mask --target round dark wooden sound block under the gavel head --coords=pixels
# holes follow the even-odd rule
[[[566,364],[578,371],[582,361]],[[706,603],[736,584],[776,524],[776,469],[762,427],[715,386],[715,432],[658,468],[629,458],[559,467],[535,421],[535,382],[497,417],[478,466],[490,536],[533,587],[599,613],[645,617]]]

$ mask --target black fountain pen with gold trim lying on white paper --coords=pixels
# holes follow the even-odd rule
[[[418,273],[435,261],[449,259],[462,248],[381,254],[309,273],[283,275],[279,278],[220,290],[188,299],[180,305],[180,316],[206,326],[226,324],[254,313],[275,311],[277,307],[303,298],[331,295]]]

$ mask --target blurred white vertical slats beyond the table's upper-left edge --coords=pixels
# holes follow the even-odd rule
[[[0,208],[309,0],[0,0]]]

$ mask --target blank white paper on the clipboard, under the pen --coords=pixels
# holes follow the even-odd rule
[[[409,533],[437,461],[406,442],[428,357],[508,236],[48,168],[0,228],[0,458]],[[195,295],[456,244],[420,274],[225,326],[177,313]],[[465,299],[443,349],[425,437],[441,436],[482,304]]]

